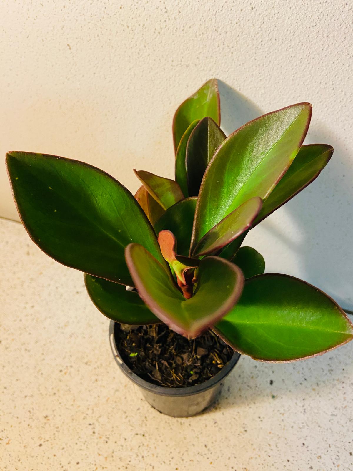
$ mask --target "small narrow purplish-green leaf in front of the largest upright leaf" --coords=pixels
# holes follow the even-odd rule
[[[262,206],[262,199],[258,196],[250,198],[239,208],[232,211],[228,216],[221,220],[215,227],[205,234],[196,245],[192,257],[201,257],[216,253],[225,245],[231,243],[234,239],[243,234],[251,227]]]

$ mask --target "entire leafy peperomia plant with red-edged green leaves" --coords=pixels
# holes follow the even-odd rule
[[[311,112],[287,106],[226,138],[210,80],[174,116],[175,180],[135,171],[134,198],[86,163],[9,152],[18,212],[44,252],[85,272],[89,296],[114,321],[162,321],[188,337],[210,327],[257,360],[317,355],[352,340],[344,311],[304,281],[264,274],[263,257],[242,245],[329,161],[331,146],[303,146]]]

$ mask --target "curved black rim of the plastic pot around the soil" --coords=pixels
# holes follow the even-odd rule
[[[225,364],[225,366],[221,369],[221,371],[212,378],[207,381],[204,381],[200,384],[196,384],[194,386],[187,386],[186,388],[168,388],[166,386],[158,386],[157,384],[152,384],[148,381],[137,376],[137,374],[133,373],[128,365],[122,359],[119,350],[117,349],[115,343],[115,336],[114,336],[114,327],[116,323],[115,321],[111,320],[109,324],[109,341],[110,346],[112,348],[112,353],[117,362],[118,366],[122,370],[122,372],[137,386],[140,388],[153,392],[154,394],[158,394],[160,396],[193,396],[194,394],[199,394],[200,392],[206,391],[213,386],[215,386],[218,382],[222,381],[227,374],[229,374],[234,366],[238,363],[241,354],[234,351],[232,358]]]

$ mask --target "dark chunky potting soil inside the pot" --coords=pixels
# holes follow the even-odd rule
[[[115,329],[115,341],[122,359],[135,374],[170,388],[209,380],[234,353],[211,330],[188,340],[165,324],[120,325]]]

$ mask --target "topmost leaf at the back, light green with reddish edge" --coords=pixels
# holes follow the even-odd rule
[[[173,118],[173,139],[176,150],[185,130],[195,119],[206,116],[221,123],[221,107],[219,101],[217,79],[204,83],[191,97],[187,98],[176,110]]]

